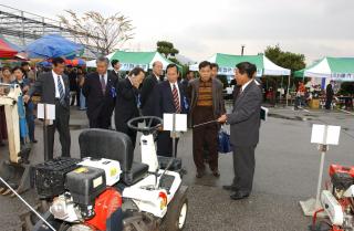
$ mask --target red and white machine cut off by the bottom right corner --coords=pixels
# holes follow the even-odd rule
[[[312,231],[354,231],[354,167],[330,166],[331,182],[321,193],[321,210],[313,216]],[[317,220],[317,213],[327,218]]]

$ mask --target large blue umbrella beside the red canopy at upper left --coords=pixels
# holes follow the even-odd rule
[[[63,56],[66,59],[73,59],[80,55],[84,50],[84,46],[74,43],[61,35],[49,34],[44,35],[28,46],[24,51],[30,57],[50,59]]]

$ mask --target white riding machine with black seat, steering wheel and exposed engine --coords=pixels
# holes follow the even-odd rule
[[[144,127],[138,122],[149,120]],[[152,123],[154,120],[154,123]],[[142,132],[142,162],[123,133],[86,129],[80,134],[81,159],[56,158],[34,167],[37,192],[48,204],[34,223],[24,218],[23,230],[46,231],[157,231],[183,230],[188,211],[187,187],[178,169],[159,167],[154,133],[163,119],[131,119],[131,129]]]

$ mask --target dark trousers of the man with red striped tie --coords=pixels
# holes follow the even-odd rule
[[[159,132],[157,134],[157,156],[164,156],[164,157],[173,157],[173,138],[170,138],[170,133],[169,132]],[[178,144],[178,138],[176,138],[176,144],[175,144],[175,155],[177,156],[177,144]]]

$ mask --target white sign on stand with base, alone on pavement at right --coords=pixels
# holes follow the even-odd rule
[[[322,208],[320,203],[320,195],[322,188],[322,176],[323,176],[323,167],[324,167],[324,157],[325,153],[329,150],[329,145],[339,145],[340,144],[340,126],[331,126],[331,125],[319,125],[314,124],[312,126],[311,134],[311,143],[319,144],[319,150],[321,151],[321,162],[320,162],[320,174],[317,181],[317,193],[316,198],[310,198],[306,201],[300,201],[300,206],[305,216],[313,216],[314,212]],[[324,217],[324,213],[319,213],[319,217]]]

